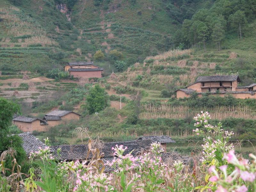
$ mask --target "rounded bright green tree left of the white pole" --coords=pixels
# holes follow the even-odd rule
[[[99,84],[89,90],[86,97],[86,108],[90,114],[100,112],[108,106],[108,93]]]

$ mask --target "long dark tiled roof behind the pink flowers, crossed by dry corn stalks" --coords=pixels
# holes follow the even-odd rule
[[[147,140],[132,140],[132,141],[124,141],[124,142],[110,142],[104,143],[104,147],[102,148],[102,153],[104,153],[104,157],[113,157],[112,147],[116,145],[123,145],[127,147],[124,152],[124,155],[128,153],[132,153],[132,155],[136,156],[140,153],[141,149],[147,149],[150,147],[151,143],[155,141],[147,139]],[[88,145],[58,145],[51,146],[52,153],[56,154],[58,148],[61,148],[60,152],[60,160],[75,160],[75,159],[84,159],[87,156]],[[89,158],[92,157],[92,154],[89,155]]]

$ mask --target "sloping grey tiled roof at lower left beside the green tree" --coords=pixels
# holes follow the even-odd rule
[[[20,136],[23,140],[22,147],[26,151],[27,156],[29,156],[30,152],[37,151],[39,147],[46,147],[46,145],[42,141],[37,139],[34,135],[32,135],[32,133],[20,133],[17,135]]]

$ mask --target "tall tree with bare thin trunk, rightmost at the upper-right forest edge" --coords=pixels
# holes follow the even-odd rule
[[[240,34],[240,39],[242,39],[241,28],[243,30],[244,26],[247,24],[247,20],[245,18],[244,12],[241,10],[238,10],[234,14],[231,14],[229,16],[229,22],[231,24],[231,27],[237,28],[237,32],[238,32],[237,34]]]

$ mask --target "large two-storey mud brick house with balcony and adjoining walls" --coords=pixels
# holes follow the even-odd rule
[[[229,93],[235,98],[256,99],[256,84],[238,86],[240,82],[241,80],[237,75],[199,76],[195,83],[175,92],[177,98],[190,97],[194,92],[199,97],[202,97],[202,94],[207,92],[208,94],[218,94],[220,97],[224,97],[226,93]]]

